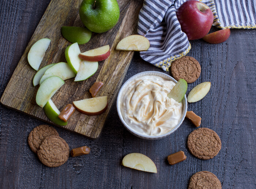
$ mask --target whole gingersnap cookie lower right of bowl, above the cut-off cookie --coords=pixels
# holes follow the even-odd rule
[[[215,131],[199,128],[188,135],[188,149],[195,157],[209,160],[221,150],[221,139]]]

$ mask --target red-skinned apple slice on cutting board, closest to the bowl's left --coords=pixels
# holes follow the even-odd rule
[[[76,110],[86,115],[99,115],[108,108],[108,97],[87,98],[80,101],[74,101]]]

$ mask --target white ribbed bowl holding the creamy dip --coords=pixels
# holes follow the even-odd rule
[[[125,120],[123,118],[123,115],[122,115],[121,110],[120,110],[120,98],[121,98],[121,94],[123,93],[124,88],[127,86],[128,83],[130,83],[133,80],[135,80],[136,78],[138,78],[140,76],[144,76],[144,75],[157,75],[157,76],[161,76],[162,78],[172,80],[174,83],[177,83],[177,81],[174,78],[172,78],[170,75],[167,75],[167,74],[164,74],[164,73],[158,72],[158,71],[145,71],[145,72],[141,72],[139,74],[133,75],[130,79],[128,79],[123,84],[120,91],[118,92],[117,103],[116,103],[117,113],[118,113],[118,116],[119,116],[121,122],[123,123],[124,127],[130,133],[135,135],[136,137],[143,138],[143,139],[149,139],[149,140],[161,139],[161,138],[169,136],[174,131],[176,131],[178,129],[178,127],[180,127],[181,123],[184,121],[184,118],[185,118],[186,113],[187,113],[187,107],[188,107],[187,97],[186,97],[186,95],[184,95],[184,98],[181,101],[182,104],[183,104],[183,110],[182,110],[182,117],[180,119],[180,122],[172,130],[170,130],[168,133],[165,133],[165,134],[159,135],[159,136],[149,136],[149,135],[144,135],[144,134],[140,134],[140,133],[136,132],[135,130],[131,129],[131,127],[125,122]]]

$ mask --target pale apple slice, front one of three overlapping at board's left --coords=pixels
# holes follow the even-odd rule
[[[38,106],[44,107],[45,104],[52,98],[55,92],[64,85],[64,81],[58,76],[51,76],[44,80],[38,88],[35,101]]]

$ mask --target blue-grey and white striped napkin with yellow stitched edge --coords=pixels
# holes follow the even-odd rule
[[[144,0],[139,13],[138,33],[150,41],[150,48],[140,52],[142,59],[169,70],[171,63],[191,49],[187,35],[181,31],[176,11],[187,0]],[[218,28],[256,28],[255,0],[200,0],[214,15]]]

